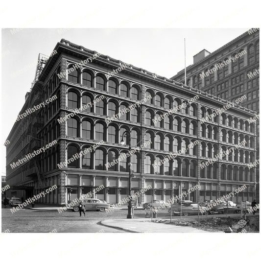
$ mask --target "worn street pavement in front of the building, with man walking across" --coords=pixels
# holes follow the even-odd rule
[[[40,211],[21,209],[11,213],[10,207],[2,208],[2,232],[8,230],[11,233],[126,233],[122,230],[105,227],[100,221],[106,219],[124,219],[127,216],[127,209],[115,209],[111,213],[86,211],[86,216],[79,216],[78,212],[65,211]],[[239,216],[240,214],[229,214]],[[213,216],[224,215],[208,215]],[[144,218],[144,210],[134,210],[134,218]],[[206,216],[203,216],[206,218]],[[170,218],[167,210],[157,214],[157,218]],[[173,219],[180,216],[173,216]],[[182,218],[197,218],[197,216],[182,216]],[[201,218],[201,217],[200,217]]]

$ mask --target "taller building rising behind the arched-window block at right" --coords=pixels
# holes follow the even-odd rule
[[[235,102],[246,95],[241,106],[259,114],[259,29],[252,28],[214,52],[203,49],[193,56],[186,69],[187,85],[219,98]],[[185,70],[171,79],[184,83]],[[259,159],[259,120],[257,120]],[[259,167],[257,169],[259,197]]]

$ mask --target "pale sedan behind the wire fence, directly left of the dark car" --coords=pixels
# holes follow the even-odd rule
[[[182,204],[182,205],[181,205]],[[172,204],[172,214],[173,215],[196,215],[198,214],[198,204],[195,202],[192,203],[184,203],[184,202],[180,202],[178,204]],[[201,207],[199,206],[199,213],[200,209],[203,211],[204,214],[207,213],[206,211],[206,207]],[[170,213],[171,208],[168,208],[168,213]]]

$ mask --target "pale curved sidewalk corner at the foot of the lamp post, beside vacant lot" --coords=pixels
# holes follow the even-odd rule
[[[101,224],[133,233],[210,233],[193,227],[154,223],[150,218],[108,219]]]

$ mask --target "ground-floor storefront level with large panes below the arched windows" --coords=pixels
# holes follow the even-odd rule
[[[27,199],[40,194],[38,181],[25,184],[33,190],[11,190],[9,196]],[[88,198],[105,200],[108,203],[126,203],[129,195],[129,178],[126,176],[109,176],[106,174],[78,174],[59,171],[47,177],[47,187],[56,185],[57,189],[49,191],[41,196],[37,203],[44,204],[67,204],[76,198],[88,194]],[[233,202],[249,201],[255,198],[254,184],[225,184],[216,182],[199,182],[194,179],[182,179],[179,177],[155,177],[136,176],[132,178],[131,194],[137,196],[138,204],[154,200],[168,201],[171,196],[177,200],[191,200],[201,202],[216,200],[230,194],[227,200]],[[242,188],[242,189],[241,189]],[[234,192],[234,194],[233,194]],[[232,195],[233,194],[233,195]]]

